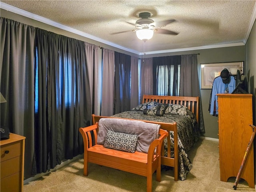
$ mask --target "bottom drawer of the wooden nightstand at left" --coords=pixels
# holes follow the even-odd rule
[[[21,191],[21,172],[8,176],[0,180],[1,192],[20,192]]]

